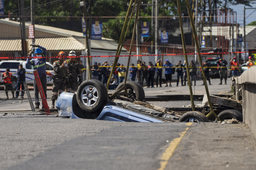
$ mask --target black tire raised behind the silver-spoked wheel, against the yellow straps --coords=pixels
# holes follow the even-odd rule
[[[116,90],[118,90],[119,88],[121,88],[123,86],[124,82],[120,83]],[[143,101],[145,99],[145,92],[143,90],[143,87],[134,81],[126,81],[126,88],[127,90],[130,89],[130,94],[128,96],[128,98],[134,97],[135,99],[139,100],[139,101]],[[127,97],[126,95],[124,95],[125,97]]]

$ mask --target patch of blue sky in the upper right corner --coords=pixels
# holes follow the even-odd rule
[[[252,7],[249,7],[249,6],[245,6],[245,8],[256,8],[256,4],[251,4]],[[229,6],[229,8],[233,9],[234,11],[237,12],[237,22],[243,26],[243,8],[244,8],[244,5],[232,5],[232,6]],[[253,13],[252,13],[253,12]],[[251,14],[252,13],[252,14]],[[256,9],[246,9],[245,10],[245,15],[256,15]],[[247,18],[247,16],[245,17],[245,25],[253,22],[253,21],[256,21],[256,16],[249,16]]]

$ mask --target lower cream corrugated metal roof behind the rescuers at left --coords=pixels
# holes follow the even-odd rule
[[[26,39],[26,41],[28,44],[32,44],[32,39]],[[84,37],[37,38],[35,44],[40,44],[50,51],[86,49]],[[116,51],[117,46],[115,41],[91,40],[91,49]],[[21,51],[21,39],[0,39],[0,51]],[[122,51],[126,51],[126,49],[122,48]]]

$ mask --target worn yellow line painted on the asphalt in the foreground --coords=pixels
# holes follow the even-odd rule
[[[188,122],[186,124],[186,126],[191,126],[192,124],[193,124],[193,122]],[[183,136],[186,134],[188,129],[189,129],[189,127],[187,127],[185,129],[185,131],[183,131],[179,134],[180,137],[173,139],[173,141],[170,143],[170,145],[168,146],[168,148],[165,150],[165,152],[162,155],[162,158],[161,158],[162,161],[160,161],[160,168],[158,170],[165,169],[165,167],[168,163],[168,160],[173,155],[173,152],[175,151],[176,147],[178,146],[179,142],[181,141]]]

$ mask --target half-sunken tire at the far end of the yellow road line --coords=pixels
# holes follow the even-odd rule
[[[209,122],[208,118],[201,112],[186,112],[179,118],[179,122]]]

